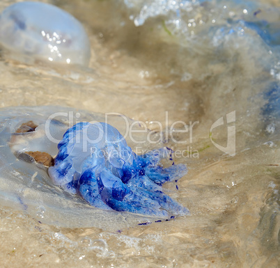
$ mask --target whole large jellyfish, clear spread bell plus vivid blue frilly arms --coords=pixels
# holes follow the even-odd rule
[[[128,136],[126,141],[115,143],[116,139],[123,138],[127,127],[135,122],[121,116],[109,116],[109,138],[95,144],[98,150],[93,148],[92,132],[106,125],[92,125],[88,139],[83,139],[84,149],[92,148],[89,152],[92,158],[88,158],[88,151],[83,152],[83,143],[72,141],[77,141],[79,134],[83,132],[82,127],[88,128],[91,124],[80,123],[72,127],[77,120],[93,123],[104,122],[105,118],[98,113],[66,107],[0,109],[2,206],[15,207],[42,223],[65,227],[94,226],[114,231],[188,213],[187,209],[162,191],[161,185],[164,182],[177,180],[186,173],[185,166],[171,165],[163,168],[160,165],[160,158],[166,156],[162,152],[170,150],[158,150],[158,155],[154,154],[155,151],[146,156],[135,155],[131,148],[135,149],[138,145],[134,141],[146,139],[148,132],[137,132],[133,140]],[[67,137],[75,133],[74,129],[78,136],[68,142]],[[74,148],[66,157],[65,151],[70,150],[72,145]],[[55,158],[55,166],[50,169],[50,174],[63,168],[63,163],[66,165],[72,161],[75,164],[71,171],[75,168],[75,175],[71,177],[68,169],[65,176],[51,175],[51,180],[44,161],[40,162],[30,154],[37,151]],[[116,152],[116,155],[109,157],[105,155],[106,152]],[[100,157],[96,158],[94,155]],[[94,161],[100,164],[98,168],[94,168]],[[171,160],[166,161],[173,163]],[[101,178],[99,184],[94,184],[94,172]],[[91,194],[91,186],[98,189],[97,196]],[[132,197],[135,199],[132,200]]]

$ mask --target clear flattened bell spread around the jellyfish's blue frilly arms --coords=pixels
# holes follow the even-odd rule
[[[79,113],[79,122],[104,122],[104,120],[107,120],[111,126],[116,127],[118,132],[123,135],[126,134],[128,125],[131,127],[132,123],[135,122],[129,118],[123,120],[123,116],[105,116],[100,113],[93,113],[81,109],[77,110],[70,107],[37,106],[6,107],[0,109],[1,206],[13,207],[15,210],[23,210],[24,213],[29,214],[31,218],[54,226],[63,226],[66,228],[95,227],[102,230],[109,230],[111,232],[132,228],[137,226],[137,224],[146,224],[154,221],[170,219],[170,214],[168,214],[168,216],[153,216],[153,213],[148,214],[147,210],[146,214],[141,214],[139,212],[138,214],[132,214],[128,213],[128,210],[118,212],[111,209],[108,205],[105,206],[105,204],[103,205],[103,208],[101,208],[101,205],[96,205],[96,203],[95,206],[89,205],[84,198],[79,196],[79,191],[84,191],[84,193],[86,193],[86,187],[88,186],[85,182],[92,181],[87,179],[90,178],[89,173],[85,173],[84,178],[80,180],[80,182],[84,182],[81,183],[83,187],[75,188],[77,194],[69,194],[68,191],[63,190],[64,187],[55,185],[52,180],[50,180],[45,166],[42,166],[40,163],[35,163],[31,157],[24,157],[26,156],[25,152],[30,151],[47,152],[49,155],[52,155],[52,157],[55,157],[59,152],[57,145],[61,140],[63,140],[63,134],[65,134],[67,129],[72,127],[74,123],[72,122],[72,116],[70,115],[76,115],[77,113]],[[21,126],[26,125],[25,123],[30,120],[33,121],[34,125],[38,125],[38,127],[35,129],[29,129],[28,132],[18,132]],[[141,130],[142,128],[137,128],[137,125],[133,124],[133,129]],[[128,135],[126,136],[125,143],[129,144],[132,148],[135,148],[137,145],[135,144],[135,141],[143,141],[143,139],[147,139],[148,134],[153,136],[150,132],[136,132],[133,134],[133,138],[135,140],[132,140],[132,136]],[[91,140],[93,140],[93,136],[91,136]],[[112,141],[107,141],[108,144],[111,142]],[[101,145],[101,142],[99,144]],[[78,143],[75,143],[75,145],[79,147]],[[139,145],[137,145],[137,147],[139,148]],[[123,148],[123,145],[121,148]],[[141,145],[141,148],[145,150],[144,148],[146,148],[146,146]],[[130,152],[130,149],[127,148],[127,150]],[[72,158],[73,152],[74,150],[70,154],[70,157]],[[79,150],[77,150],[77,153],[78,152]],[[95,150],[93,149],[91,153],[93,154],[94,152]],[[101,150],[96,150],[96,153],[97,152],[101,152]],[[83,150],[81,150],[77,156],[81,158],[84,157]],[[160,154],[158,157],[160,157]],[[66,161],[67,159],[65,159],[65,163]],[[111,161],[116,166],[116,161],[113,161],[113,159],[111,159]],[[85,161],[84,164],[86,164]],[[130,178],[129,172],[127,171],[132,170],[132,166],[128,166],[128,168],[127,166],[124,166],[123,170],[126,172],[127,176],[123,178],[127,178],[127,180]],[[57,167],[58,165],[54,168],[56,169]],[[74,167],[76,168],[76,166]],[[112,171],[113,169],[114,168],[111,168]],[[118,168],[118,170],[120,170],[120,168]],[[183,170],[185,170],[184,167]],[[111,173],[113,172],[110,172],[110,174]],[[166,171],[166,173],[168,172]],[[104,175],[107,175],[107,173],[104,172],[101,174],[102,180]],[[183,174],[180,174],[180,176],[182,175]],[[111,175],[111,177],[113,176]],[[118,181],[118,179],[114,179]],[[131,179],[130,184],[127,183],[125,186],[130,187],[131,189],[132,187],[135,187],[135,192],[138,196],[140,195],[141,189],[143,189],[144,194],[148,194],[148,186],[146,188],[142,187],[139,191],[137,191],[137,183],[143,182],[143,178],[141,178],[139,182],[137,182],[136,179],[137,178],[135,178],[135,180]],[[126,180],[124,180],[124,182],[126,182]],[[62,185],[62,183],[63,182],[61,181],[60,185]],[[123,193],[123,191],[120,190],[121,188],[117,187],[117,183],[110,187],[108,180],[104,180],[104,188],[108,189],[108,193],[110,193],[110,189],[111,191],[114,189],[114,194],[112,195],[114,195],[115,198],[121,199],[125,195],[125,192]],[[132,183],[135,183],[134,186]],[[150,185],[152,184],[153,183],[150,182]],[[153,194],[156,195],[155,191],[157,186],[154,186],[154,190],[150,188],[150,196],[153,196]],[[102,193],[102,196],[104,196],[104,194],[105,192]],[[140,201],[140,198],[137,198],[137,195],[135,198],[135,204],[137,201]],[[163,194],[160,192],[157,192],[157,196],[162,196],[162,198],[164,198]],[[127,195],[125,197],[127,197]],[[142,199],[143,206],[146,205],[148,207],[148,203],[145,204],[146,198],[144,195]],[[164,199],[162,200],[164,202]],[[167,200],[169,200],[169,198],[166,199],[166,201]],[[147,202],[148,201],[150,202],[150,198],[147,199]],[[104,203],[100,199],[100,204],[102,204],[101,202]],[[121,201],[118,200],[118,202]],[[182,206],[176,205],[176,207]],[[173,211],[178,211],[176,210],[176,207],[173,208]],[[41,213],[38,214],[38,208],[40,209],[39,211],[41,211],[41,208],[45,210],[43,217],[41,216]],[[186,211],[185,209],[181,210],[182,212]],[[171,213],[171,210],[169,211]],[[176,214],[172,214],[172,216],[173,215],[176,216]]]

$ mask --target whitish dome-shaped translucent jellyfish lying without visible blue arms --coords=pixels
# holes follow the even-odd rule
[[[88,65],[90,42],[84,27],[56,6],[20,2],[0,16],[0,42],[17,55]]]

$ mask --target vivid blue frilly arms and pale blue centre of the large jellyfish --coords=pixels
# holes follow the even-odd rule
[[[185,165],[160,165],[168,148],[136,155],[120,132],[106,123],[74,125],[58,148],[49,176],[95,207],[161,218],[189,213],[162,191],[164,182],[187,173]]]

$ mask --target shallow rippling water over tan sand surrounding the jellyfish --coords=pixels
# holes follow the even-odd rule
[[[1,1],[0,9],[14,2]],[[228,37],[219,49],[209,45],[202,37],[212,34],[209,17],[223,21],[215,17],[220,1],[209,17],[203,6],[199,14],[206,26],[192,24],[192,38],[172,28],[172,14],[135,26],[144,1],[139,6],[132,5],[135,1],[44,2],[84,25],[91,40],[89,67],[22,63],[1,49],[0,107],[60,105],[122,113],[155,131],[161,130],[156,121],[164,127],[199,121],[192,136],[173,132],[176,141],[187,143],[172,141],[170,133],[160,143],[182,152],[176,163],[189,168],[178,190],[173,183],[164,189],[191,215],[122,230],[65,228],[44,223],[44,207],[28,214],[15,204],[1,204],[0,266],[279,267],[279,48],[251,30]],[[279,23],[279,2],[263,3],[271,21]],[[251,14],[247,2],[232,10],[239,14],[247,6]],[[213,145],[210,129],[233,111],[235,122],[228,126],[235,126],[236,151],[231,157]],[[182,130],[180,123],[175,126]],[[225,147],[227,130],[226,123],[213,129],[212,140]]]

